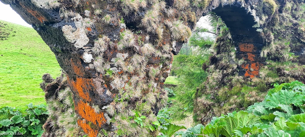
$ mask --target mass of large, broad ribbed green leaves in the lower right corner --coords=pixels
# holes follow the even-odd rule
[[[304,137],[305,85],[301,82],[274,85],[265,100],[239,111],[214,117],[201,132],[177,132],[182,137]],[[193,127],[197,130],[198,125]]]

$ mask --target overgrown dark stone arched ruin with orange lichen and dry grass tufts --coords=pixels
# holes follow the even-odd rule
[[[158,110],[167,103],[163,82],[173,55],[208,12],[220,16],[229,31],[217,37],[210,62],[203,65],[210,75],[196,94],[198,121],[242,109],[226,107],[231,96],[218,99],[222,87],[232,90],[234,81],[239,86],[304,81],[305,29],[300,18],[305,9],[300,0],[1,1],[32,24],[65,72],[57,79],[43,77],[50,111],[43,136],[80,131],[90,137],[156,136],[128,117],[145,115],[147,125],[156,121]],[[266,60],[290,61],[298,71],[266,68]],[[262,69],[278,77],[262,76]],[[252,95],[248,104],[260,100],[254,94],[246,94]]]

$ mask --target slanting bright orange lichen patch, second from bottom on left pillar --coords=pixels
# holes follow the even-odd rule
[[[82,100],[75,104],[75,111],[91,124],[102,127],[106,123],[103,112],[96,113],[94,109]]]

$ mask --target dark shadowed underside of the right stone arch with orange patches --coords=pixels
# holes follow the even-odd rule
[[[266,61],[264,57],[260,57],[265,42],[256,11],[243,4],[245,3],[235,2],[231,5],[219,5],[211,11],[220,16],[228,27],[235,46],[236,58],[246,61],[239,66],[239,76],[252,79],[259,76],[259,69]]]

